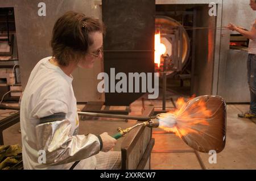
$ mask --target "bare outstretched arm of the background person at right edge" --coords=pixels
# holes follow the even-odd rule
[[[253,27],[251,28],[250,31],[247,31],[241,27],[237,27],[232,23],[229,23],[226,28],[228,28],[229,30],[232,30],[232,31],[237,31],[241,35],[245,36],[247,39],[251,39],[251,40],[256,39],[256,20],[255,20]]]

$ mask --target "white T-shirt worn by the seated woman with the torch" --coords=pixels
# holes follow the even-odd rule
[[[79,128],[76,98],[72,87],[73,77],[69,77],[58,66],[52,65],[49,62],[51,58],[43,58],[36,64],[22,95],[20,128],[24,169],[69,169],[73,164],[48,166],[38,163],[35,127],[39,124],[40,117],[63,112],[72,125],[73,135],[78,133]],[[86,158],[79,165],[80,169],[94,169],[96,158]]]

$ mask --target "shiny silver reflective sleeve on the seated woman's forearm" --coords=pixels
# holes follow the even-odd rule
[[[72,136],[67,119],[37,125],[36,139],[38,150],[46,151],[48,165],[79,161],[100,151],[100,141],[94,134]]]

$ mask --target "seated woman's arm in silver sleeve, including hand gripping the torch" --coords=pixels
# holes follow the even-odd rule
[[[51,109],[52,112],[56,110],[54,107],[67,106],[61,101],[54,100],[54,104],[52,104],[52,101],[44,100],[40,104],[40,110]],[[54,107],[51,107],[51,105],[54,105]],[[63,108],[63,110],[65,111],[66,108]],[[102,151],[109,151],[115,145],[116,140],[112,137],[109,138],[110,136],[107,133],[100,136],[94,134],[72,136],[71,123],[61,117],[61,114],[65,113],[53,111],[52,115],[41,117],[35,129],[38,151],[46,151],[46,164],[60,165],[79,161],[97,154],[101,147]],[[102,145],[100,142],[102,142]]]

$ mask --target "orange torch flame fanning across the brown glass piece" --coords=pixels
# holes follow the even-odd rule
[[[189,98],[189,100],[192,98]],[[207,119],[211,118],[212,111],[208,109],[204,100],[200,99],[193,104],[188,104],[184,98],[179,98],[177,99],[176,107],[176,110],[167,113],[172,113],[176,116],[177,124],[172,128],[164,126],[160,126],[159,128],[166,132],[174,132],[180,138],[189,133],[200,134],[200,132],[207,129],[209,125]]]

